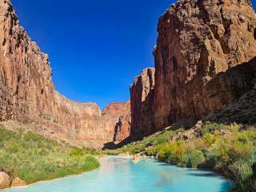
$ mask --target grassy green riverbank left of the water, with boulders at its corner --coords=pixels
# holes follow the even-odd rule
[[[2,126],[0,135],[0,188],[82,174],[100,166],[95,150],[79,149]]]

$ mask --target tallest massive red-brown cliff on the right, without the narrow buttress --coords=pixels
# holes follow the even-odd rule
[[[250,90],[252,72],[230,70],[256,56],[255,27],[248,0],[182,0],[170,6],[159,19],[154,49],[155,127],[202,118]]]

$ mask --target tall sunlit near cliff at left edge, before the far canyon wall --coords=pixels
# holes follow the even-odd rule
[[[50,114],[54,86],[48,56],[19,26],[10,1],[0,2],[0,28],[0,120]]]

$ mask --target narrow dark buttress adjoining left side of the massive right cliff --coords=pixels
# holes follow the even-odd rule
[[[154,68],[146,68],[130,86],[131,137],[154,133]]]

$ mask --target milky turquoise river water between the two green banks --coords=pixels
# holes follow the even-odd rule
[[[224,192],[230,182],[209,171],[193,170],[142,158],[109,156],[101,167],[82,175],[15,187],[4,192]]]

